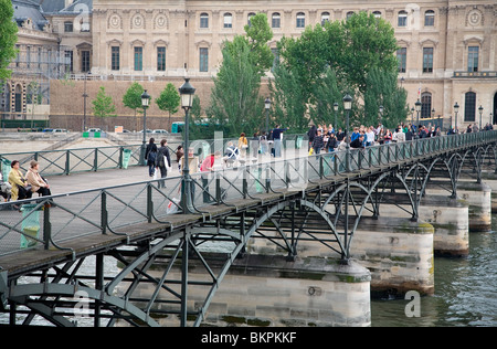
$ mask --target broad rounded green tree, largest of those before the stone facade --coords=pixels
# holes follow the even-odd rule
[[[308,105],[308,112],[315,121],[326,121],[325,118],[332,115],[330,110],[335,102],[342,112],[342,96],[349,93],[355,101],[350,125],[363,124],[364,107],[357,101],[364,99],[369,72],[378,67],[389,76],[393,74],[396,78],[398,74],[393,28],[385,20],[363,11],[346,21],[308,27],[299,38],[283,38],[278,50],[281,65],[285,67],[282,72],[286,73],[275,74],[275,86],[276,91],[286,86],[286,89],[278,93],[288,96],[279,96],[277,101],[287,101],[287,105],[283,106],[286,113],[292,113],[289,105]],[[288,72],[298,87],[293,87],[287,82],[277,82],[287,78]],[[390,91],[393,94],[393,89]]]

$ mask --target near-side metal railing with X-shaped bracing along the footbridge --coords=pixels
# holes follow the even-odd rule
[[[356,171],[491,141],[497,141],[497,131],[434,137],[351,150],[349,159],[346,151],[308,156],[307,149],[288,147],[281,160],[192,173],[192,205],[200,214],[211,204],[232,205],[284,190],[302,192],[309,183],[345,173],[347,163]],[[116,148],[113,151],[116,156]],[[139,155],[138,148],[133,151]],[[92,161],[83,160],[88,156],[82,152],[77,157],[89,168]],[[0,203],[0,255],[36,246],[62,248],[76,237],[120,234],[120,228],[136,223],[168,222],[168,215],[182,212],[180,199],[181,177],[171,177],[17,201],[21,212],[12,210],[11,202]]]

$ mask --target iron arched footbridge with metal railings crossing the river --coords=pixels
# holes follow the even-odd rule
[[[74,309],[83,305],[93,326],[159,326],[166,317],[172,326],[200,326],[229,271],[246,272],[257,255],[278,275],[298,269],[322,279],[329,272],[369,283],[351,255],[359,226],[395,205],[420,230],[420,205],[434,179],[446,197],[457,198],[462,178],[482,183],[485,171],[496,171],[497,131],[318,156],[294,150],[283,159],[192,173],[190,212],[180,201],[181,177],[134,181],[146,176],[140,167],[51,177],[54,192],[64,182],[74,190],[17,202],[21,212],[1,203],[0,311],[9,325],[41,316],[73,326]],[[115,184],[99,186],[102,178]],[[258,242],[273,245],[271,253]],[[303,266],[313,245],[326,258]],[[83,273],[89,257],[95,262]],[[105,272],[108,258],[119,266],[113,275]]]

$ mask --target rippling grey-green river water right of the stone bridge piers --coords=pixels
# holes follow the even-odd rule
[[[496,327],[497,216],[491,232],[469,233],[467,257],[435,257],[435,294],[420,298],[419,317],[405,315],[412,299],[371,300],[371,326]]]

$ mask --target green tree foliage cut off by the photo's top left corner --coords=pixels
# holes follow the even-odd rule
[[[12,2],[0,0],[0,81],[10,77],[12,72],[7,67],[18,53],[15,50],[18,25],[12,18]]]

